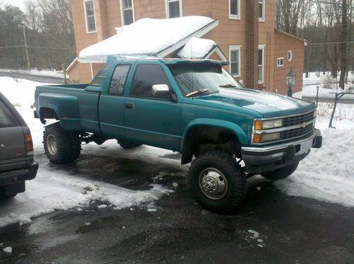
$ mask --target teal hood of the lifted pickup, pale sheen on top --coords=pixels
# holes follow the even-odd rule
[[[194,99],[202,105],[207,103],[207,105],[217,108],[227,108],[228,110],[243,108],[256,111],[263,117],[304,113],[315,108],[314,103],[309,101],[246,88],[221,88],[219,93]]]

